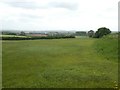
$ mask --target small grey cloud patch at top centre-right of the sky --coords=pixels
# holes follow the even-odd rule
[[[50,7],[53,8],[65,8],[68,10],[77,10],[78,4],[77,3],[69,3],[69,2],[51,2],[49,3]]]

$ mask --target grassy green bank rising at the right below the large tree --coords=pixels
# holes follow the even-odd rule
[[[97,53],[107,60],[118,61],[118,38],[115,35],[107,35],[95,42]]]

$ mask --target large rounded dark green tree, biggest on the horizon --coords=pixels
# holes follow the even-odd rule
[[[106,27],[101,27],[96,31],[95,38],[101,38],[104,35],[107,35],[107,34],[110,34],[110,33],[111,33],[110,29],[108,29]]]

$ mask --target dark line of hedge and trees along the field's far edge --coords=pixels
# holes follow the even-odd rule
[[[109,28],[101,27],[98,28],[96,32],[93,30],[90,30],[88,32],[85,31],[77,31],[73,34],[68,35],[62,35],[62,34],[55,34],[55,35],[48,35],[46,37],[44,36],[31,36],[30,38],[26,35],[25,32],[21,31],[19,34],[13,33],[13,32],[2,32],[3,35],[20,35],[20,36],[26,36],[26,37],[2,37],[2,40],[34,40],[34,39],[60,39],[60,38],[75,38],[75,36],[89,36],[92,38],[101,38],[104,35],[110,34],[111,31]]]

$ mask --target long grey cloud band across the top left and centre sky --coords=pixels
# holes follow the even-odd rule
[[[68,10],[77,10],[77,3],[70,2],[48,2],[45,5],[35,2],[4,2],[12,7],[19,7],[25,9],[48,9],[48,8],[65,8]]]

